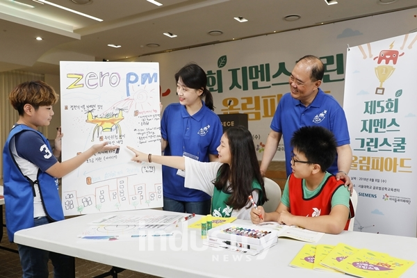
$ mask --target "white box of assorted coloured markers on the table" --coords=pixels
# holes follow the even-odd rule
[[[207,241],[217,245],[230,245],[259,251],[277,243],[277,231],[259,228],[254,225],[224,224],[208,230]]]

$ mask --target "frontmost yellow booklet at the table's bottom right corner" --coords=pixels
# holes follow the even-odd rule
[[[337,268],[346,274],[363,278],[400,277],[414,261],[394,258],[389,254],[361,249],[341,261]]]

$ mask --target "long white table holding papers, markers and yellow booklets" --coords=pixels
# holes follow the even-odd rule
[[[149,215],[169,214],[170,212],[145,210],[118,213]],[[336,277],[338,275],[288,266],[305,243],[283,238],[279,238],[277,245],[270,250],[265,250],[257,256],[202,245],[200,231],[195,229],[188,229],[182,238],[172,241],[163,238],[151,241],[77,242],[76,236],[89,226],[89,222],[108,214],[114,213],[83,215],[17,231],[15,242],[161,277],[268,277],[271,275]],[[199,216],[188,222],[191,223],[197,219]],[[235,222],[247,224],[243,220]],[[342,234],[336,236],[326,234],[319,243],[330,245],[346,243],[353,247],[386,252],[391,256],[417,262],[417,238],[343,231]],[[416,274],[417,265],[415,264],[402,277],[416,277]]]

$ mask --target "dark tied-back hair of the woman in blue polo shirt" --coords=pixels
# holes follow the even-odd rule
[[[195,89],[195,90],[203,90],[202,95],[200,98],[204,97],[204,103],[206,106],[214,111],[214,104],[213,104],[213,95],[211,95],[210,90],[207,89],[207,75],[206,72],[197,65],[196,63],[188,63],[187,65],[181,67],[175,74],[175,81],[179,81],[181,77],[181,81],[183,81],[184,85],[188,88]]]

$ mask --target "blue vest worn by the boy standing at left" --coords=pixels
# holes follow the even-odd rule
[[[38,179],[31,181],[23,175],[13,158],[9,145],[10,140],[22,131],[38,132],[45,144],[51,149],[51,145],[42,133],[23,124],[15,126],[6,140],[6,145],[3,148],[4,202],[6,204],[7,234],[10,242],[13,242],[16,231],[31,228],[34,225],[33,197],[35,196],[35,183],[38,184],[40,198],[49,222],[64,219],[57,179],[38,170]]]

